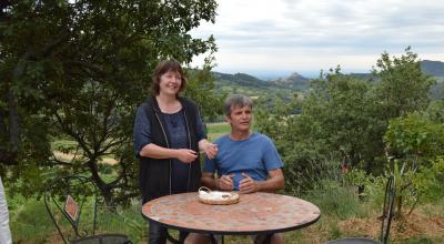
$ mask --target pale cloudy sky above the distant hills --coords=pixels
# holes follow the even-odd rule
[[[261,78],[315,77],[341,65],[370,72],[384,51],[406,47],[444,61],[442,0],[218,0],[215,23],[191,34],[215,38],[214,71]],[[192,64],[201,65],[203,55]]]

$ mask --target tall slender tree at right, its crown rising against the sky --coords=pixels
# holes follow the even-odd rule
[[[383,136],[392,119],[415,111],[423,111],[430,103],[430,90],[436,81],[422,72],[417,54],[405,49],[400,58],[390,58],[387,52],[376,61],[373,74],[377,82],[373,87],[370,105],[370,134],[373,136],[374,160],[367,161],[366,172],[381,173],[386,166]]]

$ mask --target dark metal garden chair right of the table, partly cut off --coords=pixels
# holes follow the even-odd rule
[[[385,186],[384,205],[382,210],[382,224],[380,241],[365,238],[365,237],[346,237],[340,240],[333,240],[325,244],[386,244],[390,236],[390,227],[393,218],[393,206],[395,200],[395,179],[390,176]]]

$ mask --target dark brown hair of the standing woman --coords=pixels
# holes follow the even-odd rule
[[[154,69],[154,72],[152,74],[152,83],[151,83],[151,92],[154,95],[159,95],[160,93],[160,77],[162,77],[164,73],[168,73],[170,71],[178,72],[180,73],[182,78],[182,83],[181,87],[179,88],[179,92],[183,91],[186,87],[186,78],[183,74],[183,69],[181,64],[174,60],[174,59],[169,59],[169,60],[163,60],[161,61]]]

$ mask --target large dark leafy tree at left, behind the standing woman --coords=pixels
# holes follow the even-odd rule
[[[132,121],[151,70],[163,58],[190,63],[215,51],[212,38],[189,34],[213,22],[215,8],[213,0],[2,2],[1,163],[16,164],[9,176],[21,177],[21,192],[33,193],[48,174],[81,173],[108,204],[138,195]],[[53,149],[56,139],[75,143]],[[60,160],[53,150],[74,156]],[[109,155],[119,163],[105,181]]]

